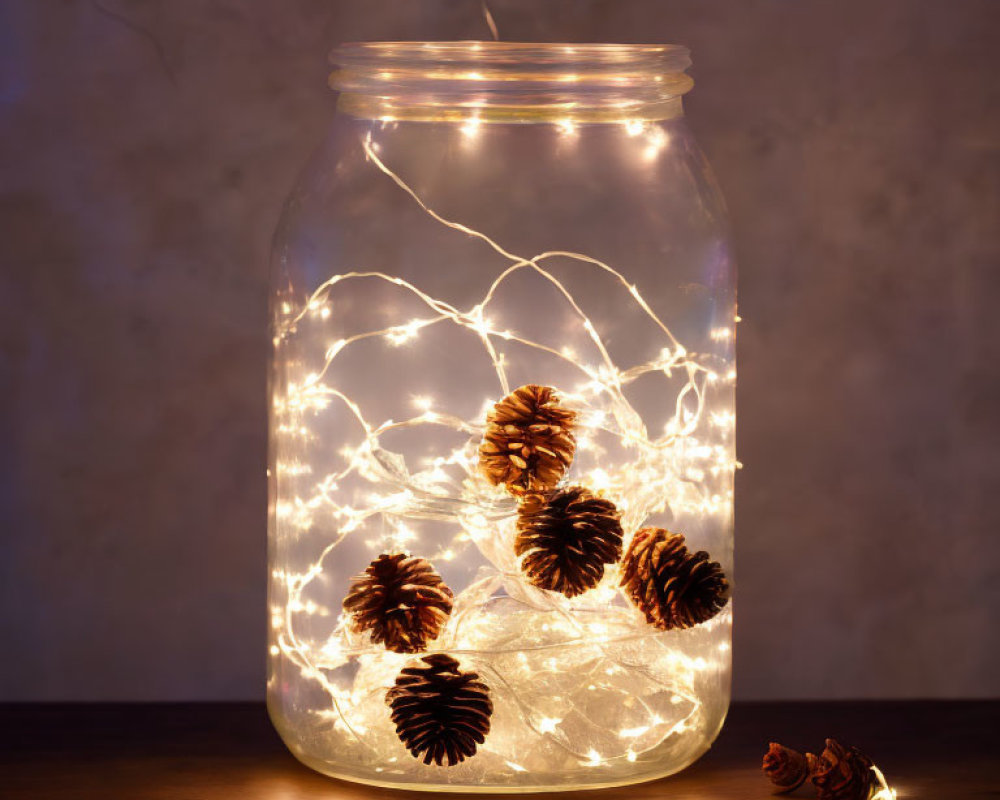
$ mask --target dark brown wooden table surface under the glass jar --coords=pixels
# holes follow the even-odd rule
[[[755,800],[771,739],[855,744],[900,798],[1000,797],[1000,701],[737,703],[713,748],[675,775],[628,789],[535,797]],[[475,795],[481,797],[481,795]],[[800,789],[792,797],[811,797]],[[473,795],[452,795],[454,798]],[[262,704],[0,705],[0,798],[428,800],[343,783],[301,766]]]

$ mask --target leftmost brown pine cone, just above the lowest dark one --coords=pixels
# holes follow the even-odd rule
[[[355,631],[396,653],[418,653],[436,639],[451,613],[453,597],[426,559],[383,553],[351,579],[344,598]]]

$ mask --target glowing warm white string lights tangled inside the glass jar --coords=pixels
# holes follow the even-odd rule
[[[564,134],[577,134],[572,120],[557,126]],[[474,137],[479,127],[478,118],[470,116],[461,126],[462,135]],[[630,137],[646,136],[644,157],[655,158],[669,146],[661,129],[643,121],[625,120],[623,128]],[[668,750],[678,760],[690,760],[714,737],[716,731],[710,727],[725,707],[728,689],[721,676],[728,670],[730,609],[692,630],[659,632],[645,624],[618,588],[617,565],[609,565],[597,587],[578,598],[532,586],[519,569],[512,546],[514,502],[477,474],[483,420],[496,398],[484,398],[482,413],[466,418],[439,404],[434,395],[414,391],[408,395],[412,416],[378,421],[338,388],[332,373],[338,359],[347,357],[360,342],[381,340],[390,347],[406,348],[441,326],[456,326],[477,337],[495,373],[498,397],[512,388],[504,347],[524,347],[558,359],[578,378],[574,385],[560,387],[567,407],[578,415],[578,450],[594,456],[609,448],[616,451],[573,480],[615,499],[628,537],[650,516],[664,512],[728,524],[731,478],[740,466],[732,457],[735,419],[728,408],[712,408],[708,397],[717,385],[731,386],[735,372],[711,354],[689,351],[638,286],[609,264],[570,251],[531,256],[511,252],[427,205],[379,156],[370,133],[362,146],[368,162],[429,218],[481,241],[506,265],[482,299],[469,308],[455,307],[410,281],[379,271],[334,275],[301,307],[282,307],[275,336],[278,348],[295,341],[306,322],[328,319],[337,293],[355,281],[397,287],[424,311],[400,324],[325,343],[317,364],[310,368],[299,364],[301,374],[275,392],[279,454],[321,439],[316,421],[334,406],[351,421],[356,437],[339,451],[343,467],[326,474],[316,474],[315,465],[300,458],[281,456],[276,462],[279,479],[294,477],[289,485],[308,486],[307,491],[276,501],[279,543],[317,529],[330,534],[317,537],[321,545],[305,569],[272,573],[272,657],[293,666],[328,700],[328,706],[314,714],[318,729],[328,730],[327,735],[336,739],[340,760],[377,765],[386,776],[427,769],[406,755],[383,702],[408,657],[375,647],[352,631],[341,615],[340,596],[324,592],[322,586],[347,537],[363,537],[374,558],[381,552],[412,550],[420,539],[414,526],[421,521],[447,523],[457,533],[436,552],[423,555],[434,563],[447,563],[475,548],[484,565],[456,593],[441,635],[426,652],[447,653],[480,673],[494,693],[496,709],[492,732],[476,757],[452,768],[456,779],[491,775],[505,776],[512,784],[530,784],[533,775],[567,768],[624,774],[619,771],[634,771],[628,765],[653,764]],[[616,282],[662,337],[655,358],[628,366],[616,363],[598,326],[550,267],[566,260]],[[498,303],[499,290],[520,274],[555,290],[596,358],[587,360],[568,345],[538,341],[494,321],[490,311]],[[732,326],[710,335],[713,342],[723,344],[732,337]],[[627,396],[640,379],[661,380],[663,396],[670,397],[673,413],[658,430],[648,428]],[[389,442],[416,430],[442,430],[457,444],[407,460]],[[342,487],[347,482],[369,487],[363,502],[357,492],[350,495],[351,503],[344,502],[347,493]],[[370,524],[374,521],[378,524]],[[318,602],[317,596],[326,602]],[[324,617],[330,618],[327,634],[317,636],[315,621]]]

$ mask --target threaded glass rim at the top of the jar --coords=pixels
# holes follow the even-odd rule
[[[355,116],[378,116],[355,113],[362,107],[394,118],[434,107],[459,117],[516,118],[521,109],[529,117],[636,112],[650,119],[663,113],[650,107],[670,105],[693,85],[685,74],[690,51],[673,44],[352,42],[330,61],[330,86]]]

